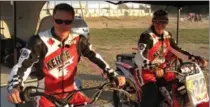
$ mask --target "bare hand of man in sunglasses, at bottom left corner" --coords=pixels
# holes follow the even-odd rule
[[[12,90],[8,93],[7,99],[8,99],[8,101],[11,102],[11,103],[15,103],[15,104],[21,103],[22,100],[21,100],[21,98],[20,98],[20,90],[19,90],[18,88],[12,89]]]

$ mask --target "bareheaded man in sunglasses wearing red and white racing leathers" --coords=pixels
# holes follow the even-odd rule
[[[45,93],[75,90],[77,87],[74,76],[81,56],[98,65],[109,79],[115,78],[119,86],[125,83],[125,78],[117,76],[117,73],[110,69],[102,57],[91,49],[90,43],[84,36],[70,32],[73,19],[73,8],[65,3],[58,4],[53,10],[53,27],[30,38],[27,46],[21,50],[18,63],[10,74],[8,83],[10,102],[22,102],[19,92],[34,64],[38,64],[35,71],[39,80],[38,87],[43,88]],[[56,97],[63,99],[66,94]],[[88,101],[81,92],[78,92],[69,102],[80,105]],[[44,97],[37,97],[36,106],[54,107],[54,104]]]

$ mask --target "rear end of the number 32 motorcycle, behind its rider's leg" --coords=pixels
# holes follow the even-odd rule
[[[127,98],[124,94],[114,91],[113,100],[115,107],[139,107],[141,102],[141,80],[138,72],[138,67],[134,62],[136,53],[132,54],[119,54],[116,59],[116,71],[126,77],[126,84],[122,88],[129,92],[131,98]]]

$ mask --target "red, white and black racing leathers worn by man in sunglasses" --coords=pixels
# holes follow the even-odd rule
[[[54,28],[32,36],[27,46],[21,50],[18,63],[12,68],[8,90],[23,87],[23,82],[29,76],[33,65],[36,65],[35,74],[38,78],[38,87],[45,93],[61,93],[75,90],[74,83],[77,64],[80,56],[87,57],[98,65],[108,75],[109,65],[102,57],[90,48],[88,40],[78,34],[69,34],[65,42],[59,41],[54,33]],[[66,94],[57,95],[65,98]],[[81,92],[74,95],[69,102],[83,104],[89,100]],[[54,107],[44,97],[36,98],[37,107]]]

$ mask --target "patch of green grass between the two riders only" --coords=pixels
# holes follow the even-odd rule
[[[91,42],[96,45],[119,45],[137,43],[144,29],[90,29]]]

